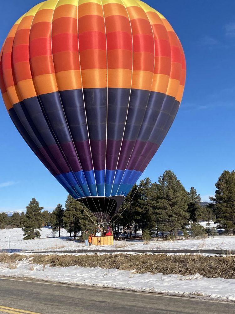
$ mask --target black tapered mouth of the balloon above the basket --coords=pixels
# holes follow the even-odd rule
[[[97,222],[109,224],[112,217],[118,212],[123,200],[123,195],[117,196],[91,196],[86,198],[77,198],[76,200],[83,203],[90,213],[92,213]]]

